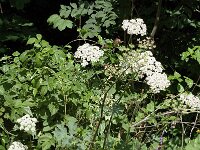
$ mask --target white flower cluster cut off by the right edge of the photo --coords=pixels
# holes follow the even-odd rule
[[[180,94],[180,100],[192,109],[200,110],[200,99],[192,93]]]

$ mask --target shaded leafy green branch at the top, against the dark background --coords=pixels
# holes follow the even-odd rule
[[[70,3],[70,6],[61,5],[60,14],[51,15],[47,22],[60,31],[76,26],[80,36],[85,39],[97,37],[102,29],[108,33],[108,28],[116,24],[116,18],[109,1],[97,0],[94,3],[82,2],[78,6],[76,3]]]

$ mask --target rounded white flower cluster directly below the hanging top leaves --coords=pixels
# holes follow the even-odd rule
[[[89,62],[99,61],[99,58],[103,56],[103,54],[104,52],[100,50],[98,46],[92,46],[86,43],[78,47],[74,57],[80,58],[82,60],[81,65],[85,67],[89,64]]]

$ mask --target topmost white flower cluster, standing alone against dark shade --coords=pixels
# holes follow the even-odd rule
[[[122,22],[122,28],[124,31],[127,30],[128,34],[135,34],[135,35],[146,35],[147,27],[146,24],[144,24],[143,19],[137,18],[137,19],[131,19],[131,20],[123,20]]]

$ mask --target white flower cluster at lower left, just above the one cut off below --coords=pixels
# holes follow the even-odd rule
[[[20,124],[19,129],[26,132],[35,133],[36,129],[36,118],[31,118],[30,115],[25,115],[22,118],[17,119],[17,123]]]

